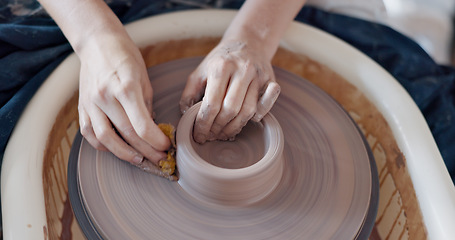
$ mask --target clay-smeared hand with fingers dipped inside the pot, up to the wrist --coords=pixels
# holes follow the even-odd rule
[[[250,119],[260,121],[280,93],[270,57],[247,42],[221,41],[188,78],[181,111],[204,95],[193,132],[198,143],[233,138]]]

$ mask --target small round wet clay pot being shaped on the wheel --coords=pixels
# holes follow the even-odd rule
[[[198,144],[193,125],[198,103],[177,127],[177,166],[181,187],[193,197],[223,205],[249,205],[264,199],[283,174],[284,136],[272,114],[250,121],[234,141]]]

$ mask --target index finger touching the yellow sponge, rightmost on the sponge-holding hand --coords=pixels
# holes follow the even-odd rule
[[[145,70],[144,70],[145,71]],[[126,79],[127,76],[124,76]],[[169,138],[153,122],[144,103],[144,97],[140,85],[132,84],[133,81],[126,81],[127,84],[116,94],[122,108],[131,122],[134,131],[149,145],[157,151],[169,149],[171,143]]]

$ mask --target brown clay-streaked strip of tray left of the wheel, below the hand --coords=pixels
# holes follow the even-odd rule
[[[77,100],[76,92],[58,113],[44,152],[45,239],[72,239],[72,224],[75,220],[68,197],[67,165],[71,145],[79,128]]]

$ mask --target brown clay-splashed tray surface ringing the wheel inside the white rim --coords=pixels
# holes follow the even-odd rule
[[[141,52],[146,65],[150,67],[179,58],[204,56],[218,41],[219,38],[165,41],[145,47]],[[372,238],[425,239],[426,230],[406,159],[378,109],[355,86],[330,68],[304,55],[279,49],[273,64],[308,79],[330,94],[351,114],[367,137],[376,158],[381,184],[380,209]],[[45,238],[58,239],[65,232],[62,228],[70,227],[62,219],[68,199],[67,159],[65,161],[66,156],[62,154],[62,140],[67,138],[69,124],[74,122],[77,123],[77,94],[59,113],[45,150],[43,183],[48,222],[48,229],[44,229]],[[388,214],[392,214],[391,217]],[[72,218],[69,214],[66,217]]]

